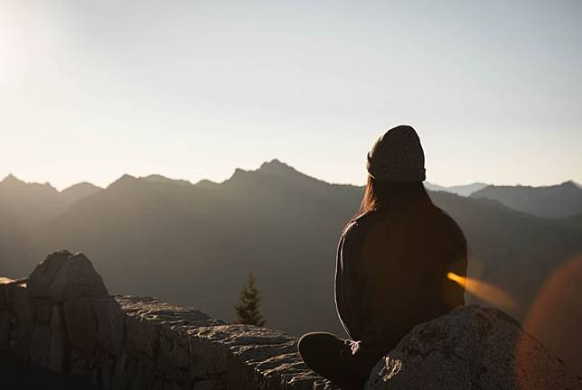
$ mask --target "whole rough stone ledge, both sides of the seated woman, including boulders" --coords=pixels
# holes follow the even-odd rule
[[[110,296],[82,254],[54,252],[27,280],[0,278],[0,349],[104,390],[333,389],[305,367],[296,341],[155,298]],[[502,311],[468,306],[418,325],[366,384],[427,388],[582,389],[582,379]]]

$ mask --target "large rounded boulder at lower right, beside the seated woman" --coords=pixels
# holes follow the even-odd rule
[[[460,307],[418,325],[373,368],[366,390],[582,389],[549,348],[510,316]]]

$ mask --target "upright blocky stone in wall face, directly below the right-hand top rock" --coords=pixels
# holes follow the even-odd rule
[[[67,336],[73,347],[92,355],[97,345],[97,319],[92,298],[70,298],[63,304]]]

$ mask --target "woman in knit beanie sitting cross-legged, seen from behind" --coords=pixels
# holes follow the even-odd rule
[[[412,328],[465,304],[463,232],[428,197],[415,130],[399,125],[368,153],[360,212],[343,229],[335,303],[351,339],[311,332],[299,339],[305,364],[345,390],[361,389],[372,367]]]

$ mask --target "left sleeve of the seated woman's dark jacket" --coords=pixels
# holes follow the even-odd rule
[[[361,340],[367,322],[362,307],[365,281],[358,261],[360,254],[352,237],[355,224],[346,229],[337,248],[335,305],[343,329],[353,340]]]

